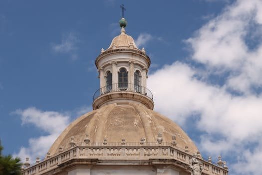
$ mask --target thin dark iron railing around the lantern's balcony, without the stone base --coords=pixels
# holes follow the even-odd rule
[[[116,91],[136,92],[136,93],[146,95],[149,98],[153,99],[153,94],[148,88],[143,87],[141,85],[131,84],[127,82],[115,83],[115,84],[110,84],[110,85],[101,87],[98,90],[96,90],[96,92],[94,93],[93,99],[95,100],[96,98],[98,98],[101,95],[107,94],[109,92],[116,92]]]

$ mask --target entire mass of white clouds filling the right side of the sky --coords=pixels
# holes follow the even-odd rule
[[[184,127],[193,119],[200,150],[225,155],[231,174],[262,174],[262,40],[251,44],[262,36],[261,11],[261,0],[227,6],[187,39],[204,68],[177,61],[148,80],[156,110]]]

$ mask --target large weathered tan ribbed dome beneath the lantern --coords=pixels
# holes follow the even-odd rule
[[[143,104],[108,104],[96,110],[88,112],[65,128],[49,149],[52,155],[58,152],[59,147],[70,147],[71,137],[74,142],[84,142],[86,134],[89,134],[90,142],[104,141],[140,142],[145,138],[146,142],[157,142],[158,133],[162,133],[163,142],[171,143],[172,136],[176,135],[178,147],[191,152],[197,152],[198,148],[179,125],[169,118],[148,109]]]

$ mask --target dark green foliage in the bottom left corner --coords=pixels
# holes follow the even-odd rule
[[[0,142],[0,175],[20,175],[21,165],[20,158],[12,158],[11,155],[2,155]]]

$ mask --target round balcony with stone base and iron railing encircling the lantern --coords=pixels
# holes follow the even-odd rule
[[[153,109],[152,92],[141,85],[131,83],[114,83],[96,90],[93,95],[93,108],[97,109],[103,104],[124,103],[135,100]]]

